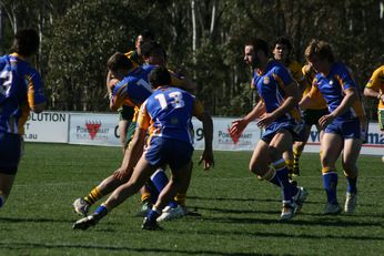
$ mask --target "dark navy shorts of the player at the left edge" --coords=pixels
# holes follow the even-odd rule
[[[21,135],[0,132],[0,173],[17,173],[21,145]]]

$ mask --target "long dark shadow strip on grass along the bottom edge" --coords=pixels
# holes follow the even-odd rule
[[[104,246],[104,245],[77,245],[77,244],[40,244],[40,243],[6,243],[0,242],[1,249],[81,249],[79,254],[83,254],[87,249],[109,250],[109,252],[125,252],[125,253],[146,253],[146,254],[185,254],[185,255],[265,255],[256,253],[222,253],[216,250],[186,250],[186,249],[164,249],[164,248],[132,248],[128,246]],[[272,254],[269,254],[272,255]],[[290,254],[286,254],[290,255]]]

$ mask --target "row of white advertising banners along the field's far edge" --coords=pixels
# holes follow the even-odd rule
[[[220,151],[253,151],[262,131],[255,122],[247,125],[240,137],[230,134],[231,123],[235,117],[213,117],[213,149]],[[85,145],[120,146],[118,134],[118,114],[109,113],[31,113],[26,124],[26,141],[53,142]],[[202,123],[192,119],[194,127],[194,146],[204,149]],[[304,152],[319,153],[319,132],[312,127]],[[367,141],[362,154],[384,155],[384,133],[377,123],[371,123]]]

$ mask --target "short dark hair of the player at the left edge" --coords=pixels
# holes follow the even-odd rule
[[[34,29],[21,29],[14,34],[11,52],[30,57],[38,52],[39,44],[39,33]]]

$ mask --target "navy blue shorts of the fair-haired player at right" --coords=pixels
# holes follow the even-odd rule
[[[351,120],[344,120],[338,121],[334,120],[332,123],[330,123],[325,130],[325,133],[334,133],[341,135],[343,139],[365,139],[366,131],[362,131],[362,125],[360,123],[360,120],[351,119]]]

